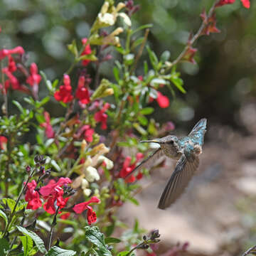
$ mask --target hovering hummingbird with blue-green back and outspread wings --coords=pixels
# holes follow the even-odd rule
[[[154,142],[160,144],[159,149],[144,159],[129,175],[144,167],[150,166],[161,156],[176,159],[177,164],[164,192],[161,195],[158,207],[165,209],[171,206],[188,186],[194,172],[198,168],[198,155],[202,153],[203,137],[206,133],[206,118],[201,119],[186,137],[178,139],[174,135],[168,135],[161,139],[153,139],[142,142]],[[128,175],[128,176],[129,176]]]

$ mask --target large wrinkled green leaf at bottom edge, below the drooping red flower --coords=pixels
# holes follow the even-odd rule
[[[92,242],[92,244],[97,246],[97,251],[100,256],[111,256],[110,250],[107,249],[105,244],[104,235],[100,233],[97,227],[85,227],[85,237],[87,240]]]

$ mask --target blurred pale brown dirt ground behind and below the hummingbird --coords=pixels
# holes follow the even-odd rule
[[[187,241],[188,255],[242,255],[256,244],[256,105],[242,107],[238,118],[250,135],[208,122],[198,172],[174,206],[156,208],[176,164],[167,159],[164,168],[142,181],[140,206],[122,208],[126,222],[138,218],[143,228],[159,229],[159,253]]]

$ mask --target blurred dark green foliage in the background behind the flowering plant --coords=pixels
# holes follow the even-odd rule
[[[174,60],[183,49],[189,33],[196,33],[204,7],[213,1],[141,0],[134,1],[141,9],[134,14],[133,27],[153,23],[149,45],[160,55],[169,49]],[[38,63],[50,80],[60,78],[72,59],[67,44],[73,38],[88,36],[90,26],[102,6],[102,0],[1,0],[0,47],[23,46],[29,54],[28,64]],[[255,100],[256,16],[255,5],[242,7],[240,1],[216,10],[221,33],[204,36],[196,42],[198,64],[182,63],[186,95],[177,94],[171,106],[157,112],[156,120],[169,117],[185,122],[210,117],[235,124],[235,111],[242,102]],[[145,50],[146,54],[146,50]],[[65,60],[65,61],[64,61]],[[108,61],[102,75],[113,80]],[[142,64],[142,63],[141,63]],[[92,76],[94,66],[88,70]],[[138,65],[137,75],[143,72]],[[170,95],[166,88],[166,94]],[[153,105],[157,107],[156,105]],[[165,118],[166,119],[166,118]]]

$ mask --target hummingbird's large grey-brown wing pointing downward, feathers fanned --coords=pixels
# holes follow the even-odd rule
[[[188,158],[185,154],[181,156],[176,164],[174,173],[171,175],[171,178],[164,188],[158,208],[164,210],[171,206],[171,203],[174,203],[176,199],[181,196],[181,193],[183,193],[186,186],[188,186],[188,182],[191,180],[198,165],[198,156],[191,155]]]

